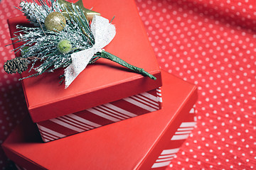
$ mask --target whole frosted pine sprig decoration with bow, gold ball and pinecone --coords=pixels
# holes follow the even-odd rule
[[[16,26],[18,32],[11,40],[23,42],[15,51],[21,51],[24,66],[21,65],[19,68],[17,64],[23,64],[21,61],[10,60],[6,64],[6,72],[23,72],[27,69],[26,62],[31,63],[30,70],[36,71],[28,77],[65,68],[65,88],[67,88],[87,64],[92,64],[99,58],[106,58],[134,72],[156,79],[144,69],[132,66],[108,52],[102,52],[102,48],[114,38],[115,27],[107,18],[99,16],[99,13],[86,9],[81,0],[75,4],[63,0],[38,0],[38,2],[42,7],[38,7],[35,2],[21,3],[21,11],[27,18],[33,18],[31,21],[39,26]],[[33,6],[31,9],[33,13],[29,11],[30,6]],[[89,24],[87,16],[91,12],[95,15]],[[41,63],[36,64],[36,62]]]

